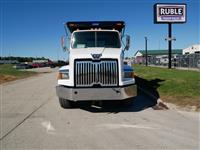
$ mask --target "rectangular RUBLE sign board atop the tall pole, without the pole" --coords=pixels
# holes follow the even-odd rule
[[[155,4],[155,23],[185,23],[186,4]]]

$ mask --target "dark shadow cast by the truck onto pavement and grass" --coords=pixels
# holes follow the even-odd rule
[[[154,109],[160,97],[157,88],[160,86],[160,82],[163,81],[161,79],[148,81],[136,77],[138,85],[136,97],[125,101],[97,101],[92,104],[79,102],[77,107],[93,113],[138,112],[151,107]]]

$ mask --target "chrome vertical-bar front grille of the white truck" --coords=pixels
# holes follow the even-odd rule
[[[75,61],[75,85],[76,87],[117,86],[118,64],[117,60],[92,60]]]

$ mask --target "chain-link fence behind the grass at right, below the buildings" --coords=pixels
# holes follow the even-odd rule
[[[135,60],[136,64],[145,64],[145,62],[145,57],[140,58],[140,61],[137,61],[137,58]],[[156,66],[168,66],[168,56],[148,56],[148,64]],[[200,69],[200,53],[189,55],[173,55],[172,66]]]

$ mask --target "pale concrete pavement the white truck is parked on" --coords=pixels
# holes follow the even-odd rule
[[[62,109],[56,73],[1,85],[1,149],[200,149],[199,113],[128,106]]]

